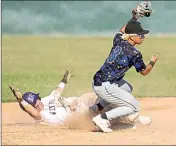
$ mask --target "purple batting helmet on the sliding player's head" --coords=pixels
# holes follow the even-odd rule
[[[23,98],[23,100],[25,100],[27,103],[29,103],[33,107],[35,106],[37,99],[41,100],[41,98],[39,97],[39,93],[35,94],[33,92],[24,93],[22,98]]]

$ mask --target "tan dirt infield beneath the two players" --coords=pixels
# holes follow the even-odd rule
[[[91,132],[86,127],[68,129],[67,126],[34,124],[33,119],[21,111],[17,103],[4,103],[2,104],[2,144],[176,144],[176,98],[143,98],[140,99],[140,103],[141,115],[150,116],[153,120],[151,125],[137,125],[136,129],[118,125],[117,130],[108,134]]]

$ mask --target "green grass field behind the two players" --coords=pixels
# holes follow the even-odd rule
[[[176,37],[150,37],[138,46],[146,63],[153,54],[159,55],[155,68],[141,76],[132,68],[125,76],[134,87],[133,95],[176,96]],[[13,101],[8,85],[22,92],[48,95],[60,82],[66,68],[75,76],[63,93],[79,96],[92,92],[92,77],[109,54],[109,37],[29,37],[2,38],[2,102]]]

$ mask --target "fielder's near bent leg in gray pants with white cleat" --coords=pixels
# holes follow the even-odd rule
[[[104,114],[93,118],[93,121],[104,132],[106,132],[104,127],[107,128],[107,126],[101,123],[100,117],[103,120],[113,120],[118,117],[135,114],[139,111],[139,103],[135,97],[133,97],[125,90],[120,89],[117,84],[110,84],[109,82],[105,82],[102,84],[102,86],[93,86],[93,89],[99,98],[105,100],[113,106],[116,106],[116,108],[113,108],[112,110],[109,110]]]

